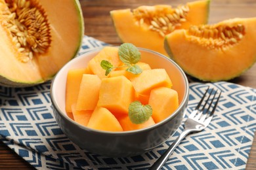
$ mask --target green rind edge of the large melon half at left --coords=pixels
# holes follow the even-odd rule
[[[85,31],[83,12],[82,12],[79,0],[75,0],[74,3],[75,3],[75,8],[77,9],[77,16],[79,17],[79,25],[80,25],[81,31],[80,31],[79,43],[77,44],[77,49],[75,49],[74,55],[70,58],[70,60],[77,56],[77,54],[81,48],[82,42],[83,42],[83,36],[84,36],[84,31]],[[35,86],[37,84],[42,84],[43,82],[52,80],[55,75],[56,75],[56,73],[54,75],[46,77],[45,79],[41,78],[41,79],[35,80],[33,82],[25,82],[25,81],[21,82],[21,81],[12,80],[11,78],[7,78],[6,76],[0,75],[0,86],[13,87],[13,88]]]

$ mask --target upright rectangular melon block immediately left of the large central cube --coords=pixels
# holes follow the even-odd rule
[[[101,80],[97,75],[84,74],[77,97],[76,110],[94,110],[98,103]]]

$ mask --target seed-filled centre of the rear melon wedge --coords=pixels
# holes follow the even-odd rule
[[[156,31],[162,37],[165,37],[175,28],[180,27],[182,22],[186,22],[188,11],[188,5],[180,5],[176,9],[171,9],[171,6],[167,5],[158,5],[155,7],[139,7],[133,10],[133,14],[137,24],[146,24],[150,30]]]

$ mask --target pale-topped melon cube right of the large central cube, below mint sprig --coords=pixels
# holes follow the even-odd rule
[[[131,79],[135,91],[140,94],[150,93],[153,88],[161,86],[171,88],[173,86],[165,69],[144,70],[139,76]]]

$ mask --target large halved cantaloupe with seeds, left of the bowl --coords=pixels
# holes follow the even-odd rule
[[[53,78],[77,54],[83,31],[78,0],[0,0],[0,84]]]

